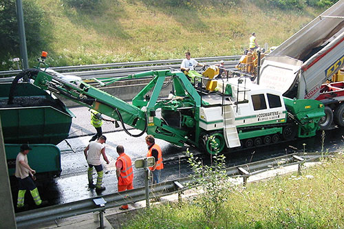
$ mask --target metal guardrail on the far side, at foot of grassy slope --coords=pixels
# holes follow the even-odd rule
[[[196,58],[197,61],[200,63],[213,63],[215,61],[234,61],[237,63],[241,56],[214,56],[214,57],[201,57]],[[180,63],[182,63],[183,59],[172,59],[172,60],[162,60],[162,61],[136,61],[136,62],[124,62],[124,63],[109,63],[109,64],[101,64],[101,65],[77,65],[77,66],[67,66],[67,67],[50,67],[51,69],[54,69],[57,72],[68,72],[68,74],[75,74],[76,76],[85,76],[85,73],[80,72],[92,72],[89,71],[90,69],[111,69],[112,71],[115,71],[115,69],[131,69],[130,71],[136,72],[136,69],[138,69],[138,72],[144,72],[149,71],[151,69],[168,69],[169,67],[175,67],[179,68]],[[225,64],[226,64],[225,62]],[[152,68],[155,67],[155,68]],[[74,72],[73,72],[74,71]],[[128,70],[129,71],[129,70]],[[128,72],[127,71],[127,72]],[[21,70],[14,70],[14,71],[1,71],[0,76],[8,77],[8,76],[16,76],[19,74]],[[97,71],[98,72],[98,71]],[[121,71],[118,71],[120,73]],[[116,75],[115,72],[109,72],[110,74],[104,74],[100,77],[116,77],[116,76],[127,76],[127,72],[125,72],[125,75]],[[102,74],[101,72],[99,72]],[[95,74],[92,74],[92,76],[95,76]]]

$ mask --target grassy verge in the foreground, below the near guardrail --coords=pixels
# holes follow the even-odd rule
[[[203,215],[202,196],[144,210],[122,228],[343,228],[344,154],[323,160],[303,175],[232,186],[219,214]]]

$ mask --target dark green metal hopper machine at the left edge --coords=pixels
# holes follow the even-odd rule
[[[19,83],[14,102],[8,105],[11,83],[0,83],[0,117],[10,175],[21,144],[30,144],[30,166],[36,173],[58,176],[61,153],[55,146],[67,138],[74,114],[46,91],[30,83]]]

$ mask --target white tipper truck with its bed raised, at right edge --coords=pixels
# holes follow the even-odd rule
[[[332,120],[344,126],[344,87],[331,80],[344,66],[344,0],[265,56],[257,83],[279,90],[283,96],[323,102],[322,129]]]

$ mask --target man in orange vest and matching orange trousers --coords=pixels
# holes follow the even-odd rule
[[[133,189],[133,167],[130,157],[125,154],[125,148],[118,145],[117,153],[120,155],[116,160],[116,175],[118,179],[118,192]],[[127,210],[128,205],[120,206],[120,210]]]

